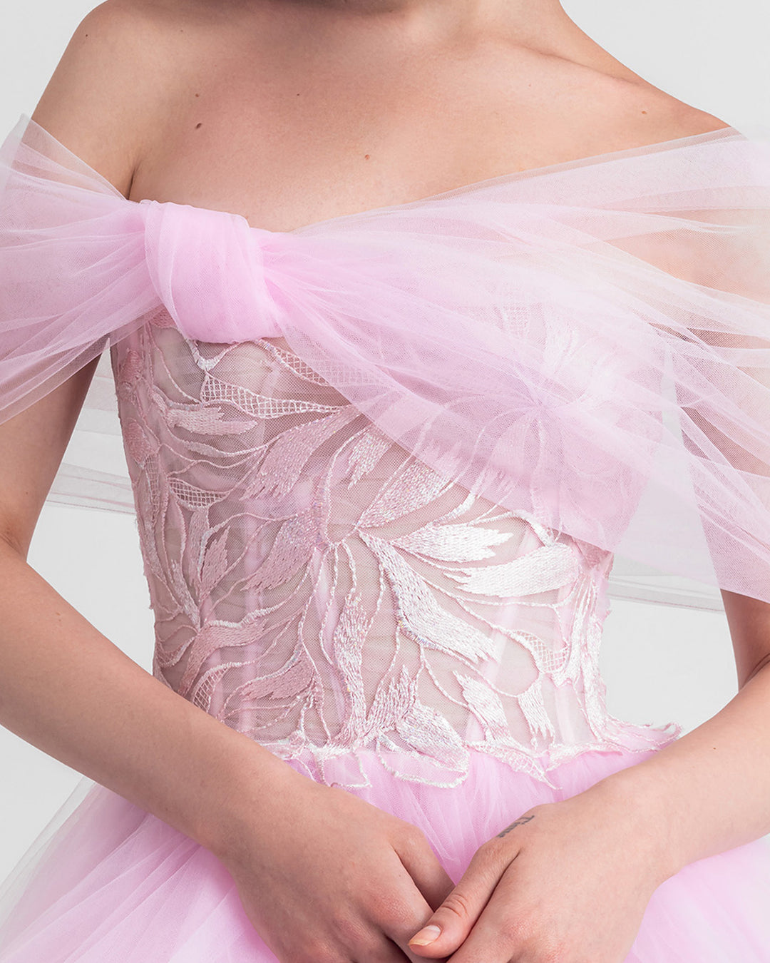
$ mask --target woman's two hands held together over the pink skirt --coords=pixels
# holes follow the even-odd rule
[[[281,963],[623,963],[671,875],[665,834],[602,783],[520,814],[456,885],[422,830],[355,794],[283,766],[245,797],[216,851]]]

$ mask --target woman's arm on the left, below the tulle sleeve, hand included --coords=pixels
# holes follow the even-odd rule
[[[414,960],[451,889],[424,834],[168,689],[27,563],[95,366],[0,425],[0,724],[210,849],[282,963]]]

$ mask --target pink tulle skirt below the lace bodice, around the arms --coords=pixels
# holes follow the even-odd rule
[[[423,829],[457,882],[475,849],[532,805],[582,792],[655,751],[586,753],[554,770],[557,790],[480,753],[452,789],[398,780],[374,754],[349,763],[372,782],[356,794]],[[626,963],[767,963],[768,866],[763,838],[684,867],[655,890]],[[0,909],[12,905],[2,963],[275,960],[209,850],[97,784],[39,856],[23,894],[7,894]]]

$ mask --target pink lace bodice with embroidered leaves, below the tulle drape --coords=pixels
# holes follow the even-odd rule
[[[195,705],[321,780],[373,748],[434,785],[474,749],[548,781],[679,734],[605,708],[608,553],[407,455],[281,338],[160,311],[112,361],[153,673]]]

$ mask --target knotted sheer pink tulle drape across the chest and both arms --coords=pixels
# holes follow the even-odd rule
[[[770,601],[763,128],[287,232],[128,201],[32,121],[2,165],[0,417],[159,309],[280,336],[449,481],[614,552],[630,597],[649,566]]]

